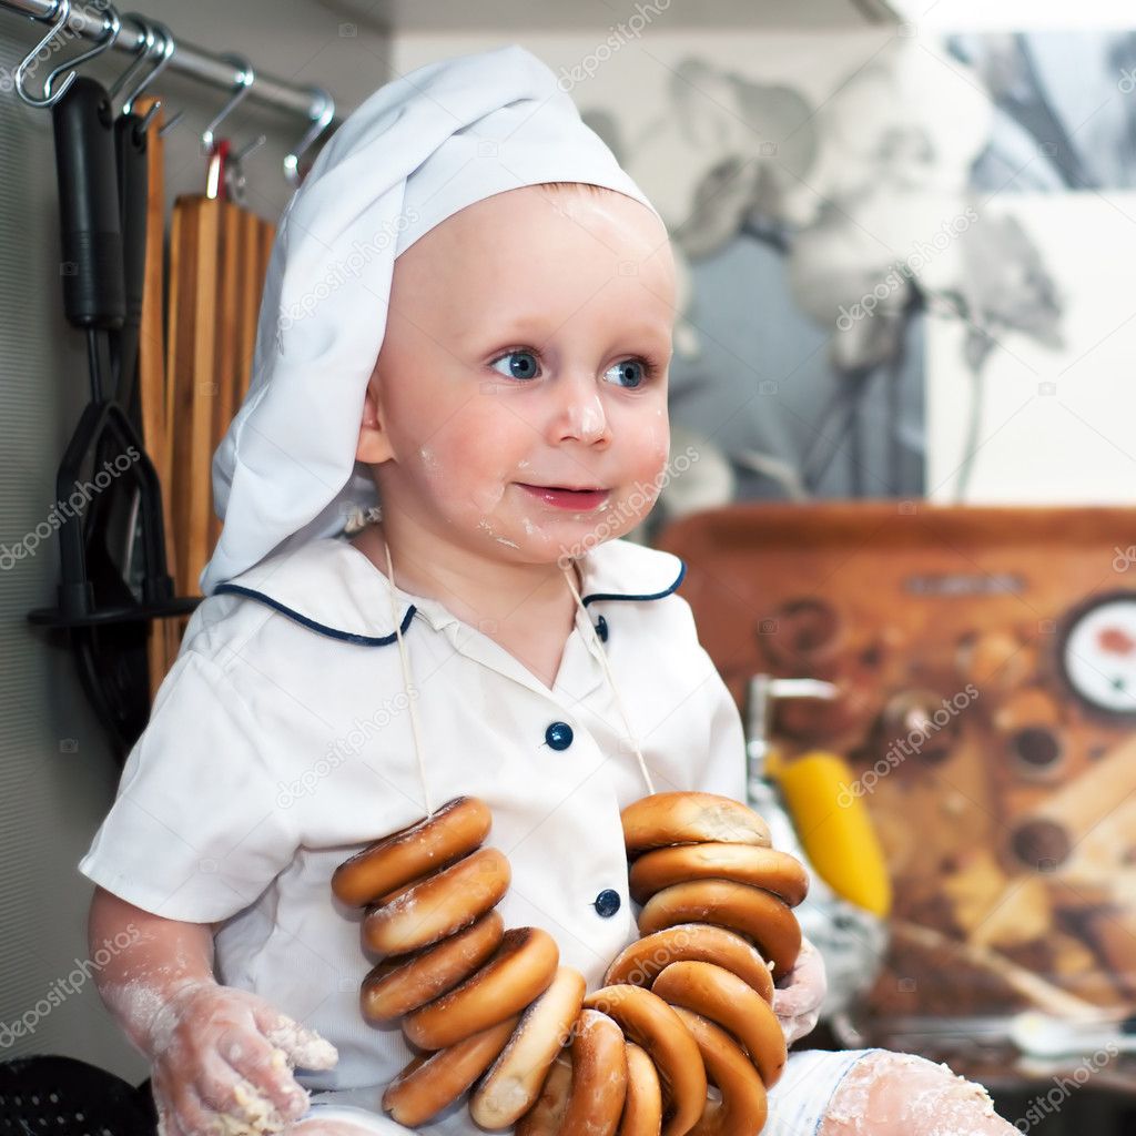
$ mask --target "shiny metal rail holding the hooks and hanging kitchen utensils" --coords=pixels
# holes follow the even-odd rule
[[[51,23],[59,10],[59,0],[0,0],[0,9],[30,16],[32,19],[43,23]],[[68,30],[92,42],[97,41],[106,28],[105,15],[105,9],[74,7],[67,20]],[[144,43],[145,36],[124,23],[112,49],[125,53],[136,53]],[[169,59],[170,70],[202,80],[226,91],[232,91],[242,81],[243,73],[237,65],[182,40],[175,39],[175,44],[174,53]],[[327,92],[319,87],[295,86],[283,80],[274,78],[259,69],[256,76],[256,82],[249,89],[250,101],[296,111],[312,122],[318,122],[324,117],[329,106],[334,107]],[[334,128],[341,122],[342,116],[333,110],[327,128]]]

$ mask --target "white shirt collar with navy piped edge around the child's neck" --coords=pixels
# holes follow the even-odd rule
[[[623,538],[591,549],[577,563],[585,607],[609,600],[661,600],[686,575],[686,563],[673,552]],[[266,557],[215,593],[258,600],[312,630],[349,643],[385,646],[398,641],[386,575],[343,536],[317,537]],[[457,623],[438,600],[396,585],[394,595],[403,635],[416,612],[434,630]]]

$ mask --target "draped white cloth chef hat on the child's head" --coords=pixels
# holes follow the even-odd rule
[[[204,595],[377,502],[354,451],[395,258],[475,201],[541,182],[607,186],[654,211],[518,44],[387,83],[328,140],[281,217],[249,393],[214,454],[224,527]]]

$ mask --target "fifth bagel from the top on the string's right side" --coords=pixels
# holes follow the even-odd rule
[[[785,1034],[772,1006],[737,975],[712,962],[673,962],[651,992],[728,1030],[745,1046],[766,1088],[777,1084],[788,1058]]]

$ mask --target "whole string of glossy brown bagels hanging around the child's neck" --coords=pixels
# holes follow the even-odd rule
[[[757,1136],[786,1061],[774,984],[801,949],[808,889],[752,809],[653,793],[620,813],[640,938],[591,993],[541,927],[506,928],[492,815],[458,796],[344,861],[364,908],[364,1018],[415,1052],[382,1108],[415,1128],[469,1094],[474,1122],[517,1136]],[[717,1091],[710,1092],[710,1086]]]

